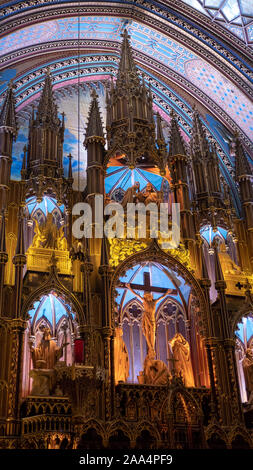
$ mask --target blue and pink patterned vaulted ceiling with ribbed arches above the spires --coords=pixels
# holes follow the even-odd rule
[[[69,101],[69,126],[78,128],[81,142],[89,89],[100,90],[103,107],[104,85],[117,73],[127,28],[165,128],[174,108],[188,141],[196,105],[234,187],[235,132],[253,157],[252,10],[252,0],[0,2],[0,94],[13,78],[22,124],[49,66],[59,108],[66,111]],[[78,98],[81,108],[71,106]]]

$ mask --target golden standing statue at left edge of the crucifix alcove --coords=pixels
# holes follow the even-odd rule
[[[123,330],[115,328],[114,338],[115,383],[126,382],[129,377],[129,356],[123,340]]]

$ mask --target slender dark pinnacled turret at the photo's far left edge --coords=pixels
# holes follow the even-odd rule
[[[12,146],[17,135],[15,99],[12,82],[0,112],[0,207],[6,209],[10,190]]]

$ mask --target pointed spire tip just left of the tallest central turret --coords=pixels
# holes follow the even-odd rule
[[[104,143],[104,131],[103,131],[103,124],[99,110],[98,104],[98,95],[96,91],[93,89],[92,93],[92,101],[90,104],[89,115],[88,115],[88,123],[86,128],[85,134],[85,145],[87,144],[88,140],[102,140]]]

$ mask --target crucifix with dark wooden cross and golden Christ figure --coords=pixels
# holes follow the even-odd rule
[[[143,273],[144,285],[141,284],[125,284],[121,283],[120,287],[127,287],[143,304],[142,315],[142,331],[146,338],[148,346],[148,356],[155,359],[155,336],[156,336],[156,320],[155,310],[157,302],[164,299],[166,295],[176,295],[176,289],[165,289],[164,287],[155,287],[150,284],[150,275],[147,272]],[[136,290],[144,291],[143,297],[135,292]],[[161,295],[158,299],[154,299],[152,292],[158,292]]]

